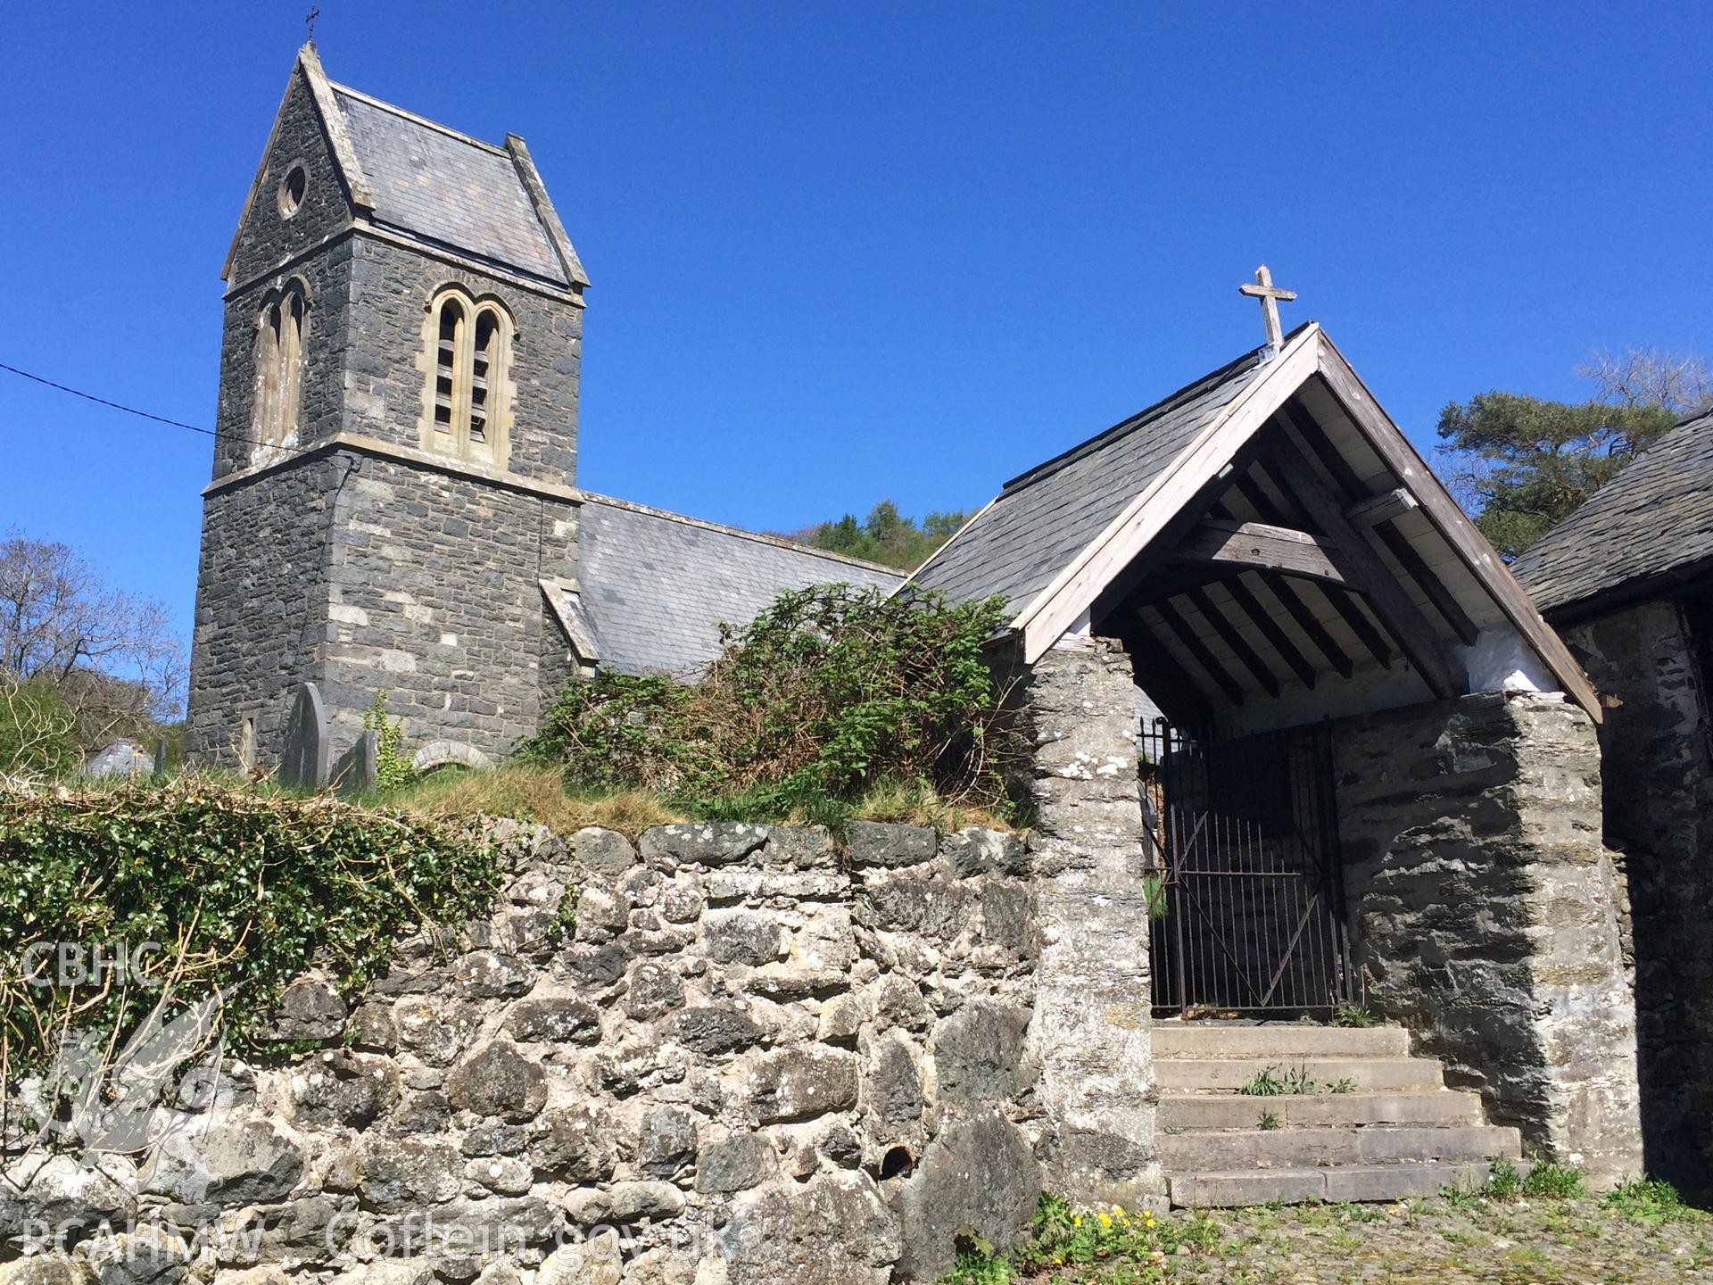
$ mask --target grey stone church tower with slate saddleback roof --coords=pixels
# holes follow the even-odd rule
[[[524,140],[305,45],[223,276],[190,754],[267,764],[303,680],[334,752],[385,690],[411,744],[502,754],[570,673],[577,576],[588,278]]]

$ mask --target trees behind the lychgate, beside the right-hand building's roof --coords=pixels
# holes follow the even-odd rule
[[[1684,415],[1713,404],[1713,372],[1687,353],[1597,353],[1576,374],[1595,387],[1588,401],[1492,391],[1439,413],[1447,483],[1507,560]]]

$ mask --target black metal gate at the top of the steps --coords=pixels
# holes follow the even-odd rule
[[[1316,1013],[1350,999],[1331,732],[1143,730],[1160,1013]]]

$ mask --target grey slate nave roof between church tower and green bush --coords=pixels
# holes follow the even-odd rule
[[[776,536],[588,495],[577,514],[581,607],[601,665],[683,673],[714,658],[719,622],[747,624],[783,589],[901,574]]]

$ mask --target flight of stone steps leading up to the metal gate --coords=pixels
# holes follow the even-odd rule
[[[1238,1091],[1262,1073],[1305,1076],[1314,1091]],[[1161,1023],[1155,1078],[1173,1204],[1430,1196],[1523,1155],[1518,1131],[1489,1126],[1437,1061],[1410,1057],[1398,1026]]]

